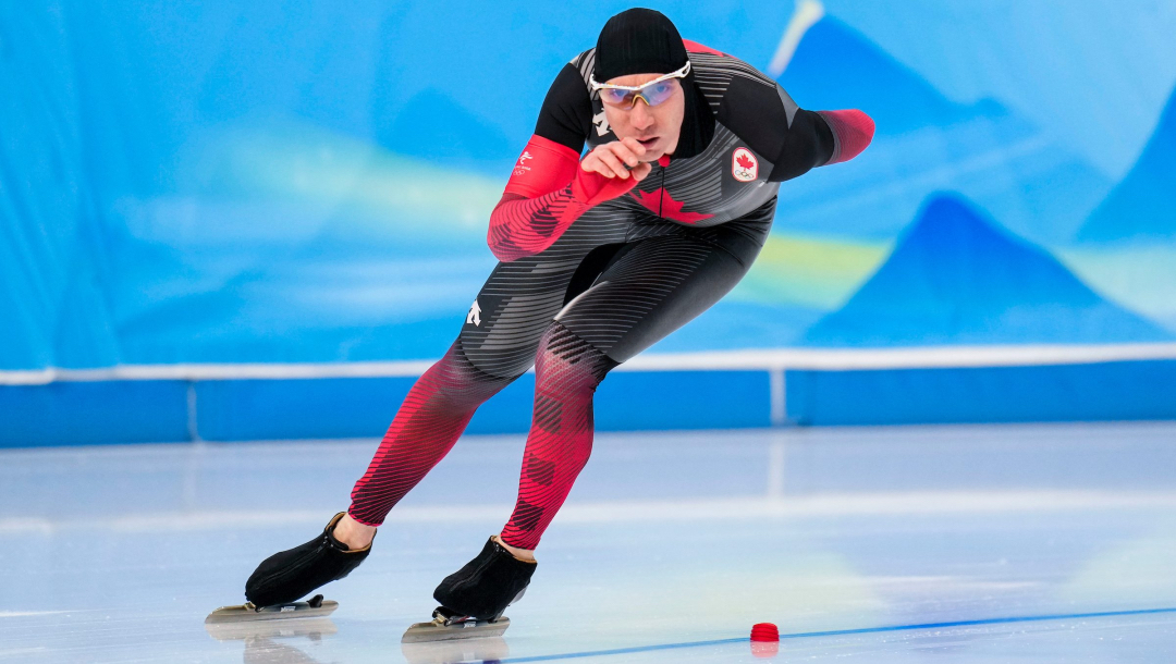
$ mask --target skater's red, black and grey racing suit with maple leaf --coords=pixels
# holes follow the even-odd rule
[[[587,83],[595,49],[556,76],[490,216],[488,241],[501,262],[355,484],[354,518],[382,523],[474,410],[534,364],[519,501],[501,536],[534,549],[588,461],[592,400],[604,375],[739,283],[768,236],[781,181],[869,143],[866,114],[801,109],[746,62],[686,45],[690,126],[676,155],[636,186],[579,167],[586,142],[616,140]]]

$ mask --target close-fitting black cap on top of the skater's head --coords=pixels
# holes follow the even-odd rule
[[[596,39],[596,81],[629,74],[668,74],[686,66],[682,35],[661,12],[627,9],[604,24]]]

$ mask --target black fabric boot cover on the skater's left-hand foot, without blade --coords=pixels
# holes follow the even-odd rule
[[[372,551],[372,545],[350,551],[335,539],[332,531],[345,512],[339,512],[322,535],[314,539],[269,556],[245,582],[245,597],[255,606],[290,604],[315,588],[339,581],[359,566]],[[319,597],[315,597],[319,599]]]

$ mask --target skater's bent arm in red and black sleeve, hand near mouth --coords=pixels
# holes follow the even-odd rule
[[[564,65],[543,100],[535,134],[490,214],[487,244],[500,261],[514,261],[547,249],[572,222],[603,201],[623,195],[648,174],[640,166],[617,175],[612,162],[633,161],[634,146],[606,143],[580,161],[592,129],[592,102],[583,78]]]

